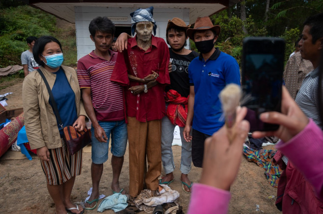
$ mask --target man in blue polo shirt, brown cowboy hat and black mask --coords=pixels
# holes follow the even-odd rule
[[[240,85],[237,61],[214,48],[220,29],[219,25],[213,25],[209,17],[199,17],[194,28],[187,30],[188,37],[194,41],[200,55],[188,66],[188,117],[183,135],[187,142],[192,140],[192,162],[197,167],[202,167],[205,139],[224,124],[220,119],[222,110],[219,93],[229,83]],[[189,135],[191,128],[192,136]]]

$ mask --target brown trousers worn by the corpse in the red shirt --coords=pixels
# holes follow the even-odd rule
[[[128,117],[129,142],[129,194],[136,197],[143,190],[144,182],[149,190],[158,189],[161,175],[161,120],[139,122]],[[145,174],[145,156],[148,171]]]

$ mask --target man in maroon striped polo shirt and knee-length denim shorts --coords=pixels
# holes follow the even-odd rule
[[[123,89],[110,77],[117,59],[117,52],[110,50],[115,26],[107,17],[97,17],[89,24],[90,38],[95,50],[78,62],[78,79],[86,114],[92,127],[92,194],[85,203],[85,210],[93,210],[99,200],[99,183],[103,163],[108,160],[111,135],[111,165],[113,193],[123,192],[119,176],[127,147]]]

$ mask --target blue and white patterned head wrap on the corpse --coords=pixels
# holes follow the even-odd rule
[[[154,24],[154,35],[156,35],[156,28],[157,25],[155,24],[155,20],[153,19],[153,10],[154,7],[151,6],[146,9],[137,9],[135,12],[132,12],[130,16],[132,17],[131,19],[131,33],[134,35],[135,34],[135,25],[138,22],[152,22]]]

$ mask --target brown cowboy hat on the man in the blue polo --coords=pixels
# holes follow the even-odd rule
[[[213,25],[210,17],[198,17],[195,21],[194,28],[188,28],[187,34],[191,40],[194,40],[194,33],[197,31],[213,30],[216,35],[219,35],[221,27]]]

